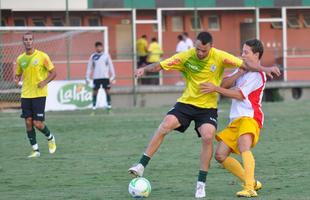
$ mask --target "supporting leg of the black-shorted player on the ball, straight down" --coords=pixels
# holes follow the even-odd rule
[[[201,136],[201,153],[195,197],[203,198],[206,196],[205,185],[213,154],[213,139],[216,127],[213,124],[205,123],[198,127],[197,130]]]

